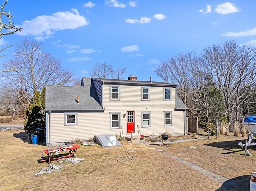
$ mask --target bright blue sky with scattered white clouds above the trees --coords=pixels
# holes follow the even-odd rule
[[[9,0],[4,9],[23,30],[0,48],[35,38],[78,78],[105,62],[126,67],[124,79],[162,81],[154,68],[178,53],[232,39],[256,46],[255,0]]]

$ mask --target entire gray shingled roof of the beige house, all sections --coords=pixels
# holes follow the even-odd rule
[[[150,85],[162,87],[176,87],[177,85],[152,82],[149,81],[130,81],[130,80],[114,80],[99,79],[96,81],[113,84],[134,84],[134,85]],[[46,110],[104,110],[100,104],[100,100],[96,93],[96,89],[91,78],[83,78],[84,85],[78,86],[46,86]],[[77,103],[79,96],[79,104]],[[188,109],[186,105],[176,96],[176,110]]]

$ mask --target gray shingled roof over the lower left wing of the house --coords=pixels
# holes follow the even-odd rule
[[[85,80],[84,87],[46,86],[46,110],[103,110],[91,79]]]

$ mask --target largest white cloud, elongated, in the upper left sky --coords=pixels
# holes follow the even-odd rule
[[[77,29],[90,24],[84,16],[80,16],[76,9],[66,12],[56,12],[52,15],[38,16],[22,23],[23,30],[18,35],[33,35],[38,39],[46,39],[58,30]]]

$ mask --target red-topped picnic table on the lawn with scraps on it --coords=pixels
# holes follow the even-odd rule
[[[40,160],[40,163],[49,161],[49,164],[50,164],[51,161],[58,160],[61,158],[70,158],[70,157],[76,158],[76,149],[78,149],[78,148],[80,148],[80,146],[75,144],[75,145],[64,145],[64,146],[60,146],[58,148],[45,149],[44,152],[45,152],[45,154],[47,154],[47,158],[45,158],[43,155],[42,159]],[[59,156],[60,152],[64,152],[64,151],[68,151],[69,153]],[[54,155],[54,154],[56,154],[56,155]]]

